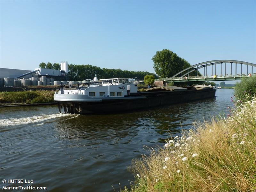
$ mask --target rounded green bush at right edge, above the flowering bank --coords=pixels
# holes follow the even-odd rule
[[[244,77],[240,83],[236,83],[235,95],[237,99],[246,97],[245,93],[251,93],[252,96],[256,94],[256,76]]]

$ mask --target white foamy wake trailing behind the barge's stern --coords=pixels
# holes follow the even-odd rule
[[[21,125],[21,124],[29,124],[29,123],[38,123],[48,119],[52,119],[56,117],[66,117],[66,116],[72,116],[71,118],[74,118],[78,115],[58,113],[58,114],[49,114],[49,115],[41,115],[41,116],[23,117],[23,118],[0,119],[0,126],[13,126],[13,125]]]

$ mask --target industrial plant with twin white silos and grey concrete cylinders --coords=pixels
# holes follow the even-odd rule
[[[0,68],[0,87],[20,85],[56,85],[60,84],[59,82],[61,81],[66,82],[67,75],[67,61],[63,61],[60,63],[60,70],[35,68],[35,70],[31,71]]]

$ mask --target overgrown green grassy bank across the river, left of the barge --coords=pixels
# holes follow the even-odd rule
[[[0,105],[54,102],[54,91],[0,92]]]

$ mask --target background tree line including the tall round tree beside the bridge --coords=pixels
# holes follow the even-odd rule
[[[68,65],[68,78],[70,81],[83,80],[83,79],[93,79],[97,77],[98,79],[105,78],[116,78],[116,77],[137,77],[139,80],[143,80],[146,75],[153,75],[155,78],[161,77],[172,77],[181,70],[190,67],[190,63],[185,59],[179,57],[176,53],[163,49],[162,51],[157,51],[152,57],[153,68],[156,74],[149,73],[147,71],[128,71],[121,69],[108,69],[100,68],[92,65]],[[48,62],[47,64],[40,63],[40,68],[56,69],[60,70],[60,64]],[[190,73],[190,76],[195,76],[196,71]],[[198,71],[198,76],[201,74]]]

